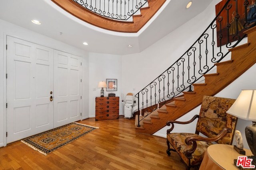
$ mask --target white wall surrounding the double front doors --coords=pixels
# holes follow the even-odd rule
[[[56,41],[52,38],[46,37],[44,35],[35,33],[28,29],[24,29],[12,23],[8,23],[6,21],[0,20],[0,147],[6,143],[6,87],[4,84],[6,83],[6,68],[4,58],[6,57],[6,35],[10,35],[16,38],[24,39],[26,41],[30,41],[32,43],[37,43],[40,45],[44,45],[46,47],[50,47],[52,49],[57,49],[59,51],[64,51],[67,53],[71,53],[74,55],[78,55],[82,57],[82,117],[88,117],[88,65],[89,65],[89,53],[78,49],[76,47],[72,47],[70,45],[64,44],[60,41]],[[87,80],[87,81],[86,81]]]

